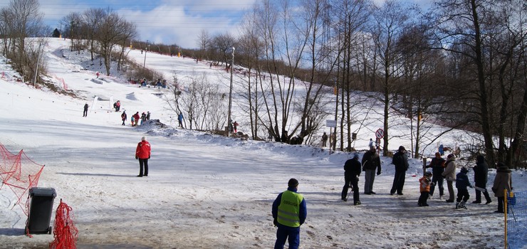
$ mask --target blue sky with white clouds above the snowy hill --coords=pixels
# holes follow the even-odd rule
[[[71,12],[110,8],[137,26],[137,39],[182,48],[196,48],[202,30],[210,35],[229,32],[236,36],[241,16],[259,0],[39,0],[44,21],[52,29]],[[385,0],[374,0],[376,4]],[[432,0],[407,0],[421,6]],[[0,7],[9,0],[0,0]]]

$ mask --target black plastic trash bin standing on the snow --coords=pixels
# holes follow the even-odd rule
[[[28,233],[51,234],[51,213],[53,212],[53,200],[57,196],[55,189],[31,188],[29,189],[31,203],[29,206],[28,222],[26,231]]]

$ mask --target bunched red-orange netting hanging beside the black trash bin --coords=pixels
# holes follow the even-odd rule
[[[55,212],[55,226],[53,226],[53,237],[55,240],[49,243],[50,249],[72,249],[76,248],[78,229],[73,222],[73,210],[66,203],[58,205]]]

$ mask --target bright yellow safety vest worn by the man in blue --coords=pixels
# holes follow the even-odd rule
[[[282,199],[280,205],[278,205],[278,217],[276,218],[278,223],[292,228],[298,228],[300,226],[300,203],[304,197],[301,194],[293,191],[284,191],[282,193]]]

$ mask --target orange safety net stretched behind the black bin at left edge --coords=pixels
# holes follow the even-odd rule
[[[2,186],[7,185],[17,197],[16,204],[21,206],[26,216],[28,215],[29,198],[22,205],[21,200],[28,193],[28,189],[36,187],[44,165],[37,164],[29,159],[24,150],[19,154],[12,154],[4,145],[0,144],[0,177]],[[1,186],[0,186],[1,189]]]

